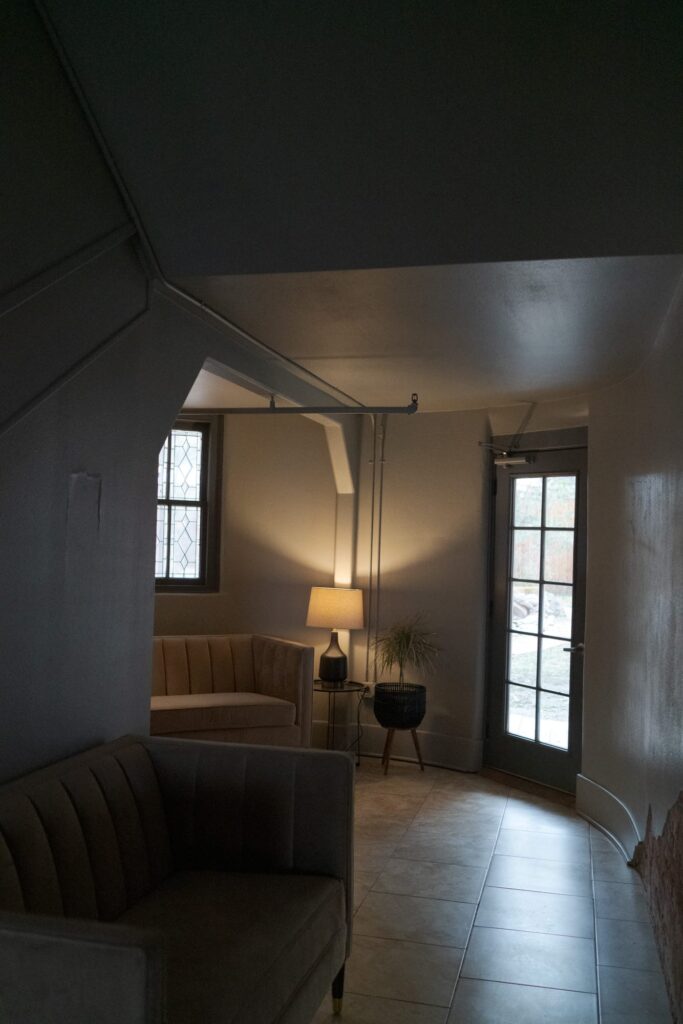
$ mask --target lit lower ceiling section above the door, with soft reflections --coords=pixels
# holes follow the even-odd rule
[[[480,409],[632,373],[683,257],[184,279],[243,330],[365,404]]]

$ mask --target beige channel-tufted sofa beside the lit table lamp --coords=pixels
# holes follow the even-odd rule
[[[313,648],[255,634],[155,637],[153,735],[309,746]]]

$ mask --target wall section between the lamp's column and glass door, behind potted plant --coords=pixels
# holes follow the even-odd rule
[[[420,729],[436,764],[473,770],[481,763],[488,523],[485,412],[390,419],[384,470],[380,627],[422,614],[441,647],[427,684]],[[372,454],[366,430],[360,460],[356,580],[368,585]],[[356,671],[366,645],[355,635]],[[371,667],[373,658],[371,657]],[[372,678],[372,668],[371,668]],[[384,730],[367,709],[364,750],[379,753]],[[410,736],[396,752],[414,756]]]

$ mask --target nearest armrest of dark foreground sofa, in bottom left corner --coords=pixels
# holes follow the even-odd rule
[[[0,1020],[162,1024],[156,933],[98,921],[0,913]]]

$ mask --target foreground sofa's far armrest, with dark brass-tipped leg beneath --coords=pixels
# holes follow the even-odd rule
[[[150,736],[180,868],[340,879],[353,916],[353,786],[347,754]]]

